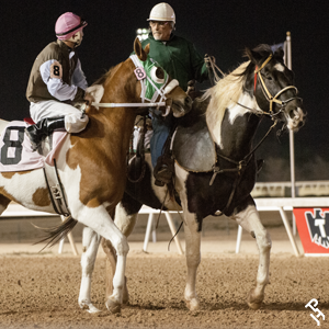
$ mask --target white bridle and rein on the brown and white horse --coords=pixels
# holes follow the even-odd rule
[[[163,84],[158,88],[156,83],[152,81],[152,79],[148,76],[148,73],[145,72],[145,69],[143,67],[141,61],[137,57],[137,55],[131,55],[129,57],[132,61],[134,63],[136,70],[139,70],[135,75],[137,79],[140,81],[141,84],[141,92],[140,92],[140,103],[97,103],[92,102],[92,106],[100,106],[100,107],[160,107],[160,106],[166,106],[166,100],[167,97],[166,94],[170,93],[175,87],[179,86],[178,80],[173,79],[168,83],[168,75],[166,77],[166,80]],[[140,75],[140,79],[138,76]],[[146,87],[146,81],[148,81],[155,89],[155,93],[152,94],[151,99],[146,98],[146,92],[147,92],[147,87]],[[160,100],[157,102],[156,100],[160,95]],[[149,103],[145,103],[145,100],[148,100]],[[166,113],[163,116],[168,115],[170,112],[170,105],[166,107]]]

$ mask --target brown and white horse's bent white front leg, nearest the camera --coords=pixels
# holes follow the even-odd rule
[[[129,251],[127,238],[116,227],[105,205],[93,208],[88,206],[79,207],[76,214],[77,216],[72,212],[72,217],[79,218],[80,223],[89,226],[103,238],[110,240],[116,250],[117,262],[113,277],[113,294],[109,297],[105,305],[111,313],[120,313],[125,284],[126,258]]]

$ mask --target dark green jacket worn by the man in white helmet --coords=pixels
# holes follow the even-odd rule
[[[190,80],[202,82],[208,79],[203,57],[185,38],[171,34],[170,39],[163,43],[156,41],[150,33],[141,43],[144,48],[147,44],[150,44],[149,56],[157,60],[171,78],[177,79],[184,91]]]

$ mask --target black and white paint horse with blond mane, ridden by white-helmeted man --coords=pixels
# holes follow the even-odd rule
[[[152,167],[148,158],[149,166],[144,180],[138,183],[127,182],[124,197],[115,212],[115,224],[124,235],[128,236],[143,204],[161,208],[164,200],[164,209],[183,211],[188,264],[184,298],[190,310],[200,307],[195,282],[196,270],[201,262],[202,222],[206,216],[214,215],[218,211],[235,219],[256,238],[259,248],[259,268],[256,286],[251,288],[247,303],[253,309],[261,306],[269,283],[272,242],[250,195],[258,170],[254,156],[258,145],[253,146],[253,137],[264,116],[269,116],[274,123],[283,123],[282,129],[290,131],[298,131],[305,120],[302,99],[297,97],[297,89],[294,87],[293,72],[283,64],[282,49],[272,53],[270,46],[260,45],[253,50],[247,48],[246,55],[249,57],[248,61],[207,90],[198,102],[194,102],[192,111],[181,118],[182,123],[173,140],[174,186],[179,194],[179,202],[169,197],[164,200],[167,188],[155,185]],[[205,121],[205,124],[201,124],[201,121]],[[193,139],[193,135],[200,133],[205,126],[208,128],[209,138],[215,144],[213,169],[204,168],[204,172],[188,170],[182,166],[184,158],[181,157],[181,154],[186,154],[186,150],[180,149],[179,146],[175,150],[175,139],[186,145],[185,166],[192,161],[197,162],[198,159],[204,163],[208,158],[206,148],[200,145],[198,140]],[[204,163],[204,166],[208,164]],[[116,256],[110,241],[103,241],[102,245],[109,259],[106,294],[110,295],[112,273],[117,265]],[[124,290],[127,302],[128,292],[126,287]]]

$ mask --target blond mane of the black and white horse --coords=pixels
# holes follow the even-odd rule
[[[225,110],[236,104],[243,91],[246,72],[250,60],[241,64],[232,72],[220,79],[213,88],[208,89],[200,101],[211,98],[206,111],[207,122],[213,123],[212,131],[216,136],[220,136],[220,127]]]

